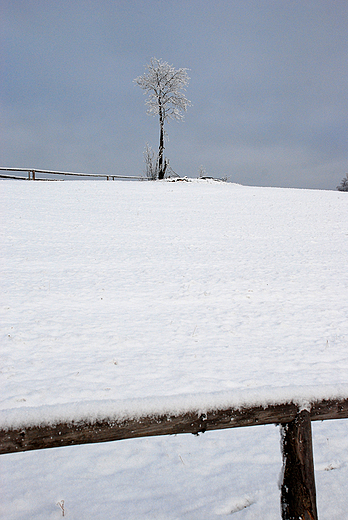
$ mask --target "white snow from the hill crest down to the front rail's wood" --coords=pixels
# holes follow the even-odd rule
[[[2,182],[10,423],[348,396],[348,200]]]

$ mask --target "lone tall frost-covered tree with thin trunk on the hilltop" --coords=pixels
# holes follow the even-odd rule
[[[157,170],[158,178],[163,179],[167,166],[164,160],[164,123],[167,119],[180,121],[184,118],[184,112],[191,104],[185,96],[190,78],[187,75],[188,69],[175,69],[166,61],[157,58],[152,58],[146,68],[147,71],[134,81],[145,94],[149,94],[146,100],[148,114],[159,117]]]

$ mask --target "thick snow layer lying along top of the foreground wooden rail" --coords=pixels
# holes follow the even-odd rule
[[[21,406],[2,410],[3,429],[24,426],[45,426],[59,423],[88,422],[102,420],[110,423],[127,419],[141,419],[146,416],[179,416],[187,412],[197,412],[200,417],[207,411],[242,409],[252,406],[295,403],[299,410],[311,409],[311,403],[323,399],[345,399],[348,385],[324,385],[306,387],[258,387],[256,389],[213,392],[211,394],[184,394],[170,397],[148,397],[143,399],[76,401],[72,403]]]

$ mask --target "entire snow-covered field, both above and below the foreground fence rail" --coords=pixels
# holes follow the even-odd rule
[[[348,197],[3,181],[1,424],[348,396]],[[348,518],[348,424],[313,424],[320,518]],[[280,517],[262,426],[1,456],[6,519]]]

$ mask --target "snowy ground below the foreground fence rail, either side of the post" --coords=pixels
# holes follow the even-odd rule
[[[313,423],[319,518],[347,517],[346,421]],[[2,455],[0,518],[279,520],[279,429],[151,437]],[[243,507],[243,509],[242,509]]]

